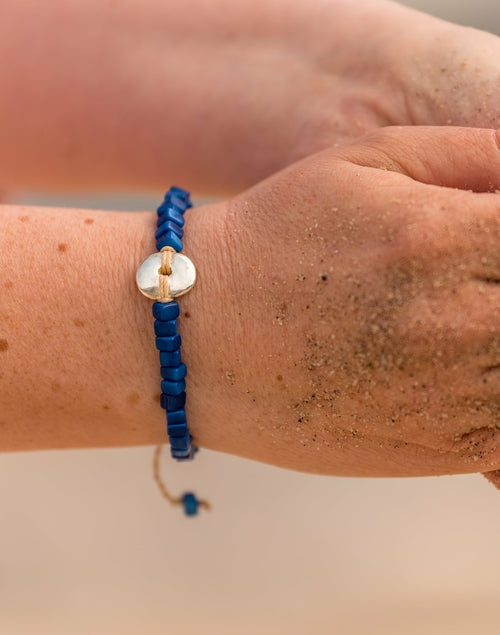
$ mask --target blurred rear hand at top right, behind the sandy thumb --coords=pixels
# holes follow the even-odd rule
[[[498,36],[383,0],[307,10],[309,46],[297,43],[303,66],[293,89],[300,100],[290,91],[277,126],[288,158],[387,125],[500,128]]]

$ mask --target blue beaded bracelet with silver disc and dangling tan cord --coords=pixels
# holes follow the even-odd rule
[[[177,332],[179,305],[175,298],[187,293],[196,281],[196,270],[189,258],[181,254],[184,236],[184,212],[192,207],[189,192],[171,187],[158,207],[155,233],[158,252],[149,256],[137,270],[137,286],[153,303],[156,348],[160,353],[160,405],[166,411],[167,433],[172,457],[190,460],[198,448],[189,432],[186,412],[186,365],[181,361],[181,336]],[[155,478],[171,502],[180,503],[188,516],[194,516],[200,506],[209,507],[188,492],[173,498],[158,477],[159,450],[155,455]]]

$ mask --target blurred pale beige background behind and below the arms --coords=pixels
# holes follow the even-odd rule
[[[407,4],[500,33],[498,0]],[[500,64],[500,61],[499,61]],[[23,202],[146,209],[137,197]],[[498,635],[500,493],[479,476],[297,474],[203,450],[0,456],[2,635]]]

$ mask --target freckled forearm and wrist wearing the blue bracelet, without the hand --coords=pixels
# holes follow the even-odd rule
[[[164,441],[151,302],[135,287],[138,264],[155,251],[154,215],[0,210],[0,450]],[[206,360],[218,363],[207,348],[217,297],[208,247],[217,238],[213,215],[191,216],[186,252],[200,284],[182,298],[192,317],[179,322],[190,424],[203,442],[205,394],[194,386],[210,391]],[[209,410],[207,420],[217,435]]]

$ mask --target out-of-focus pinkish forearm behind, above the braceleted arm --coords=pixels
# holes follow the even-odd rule
[[[382,105],[399,81],[396,38],[428,20],[376,0],[2,7],[8,188],[159,189],[167,178],[207,193],[239,190],[396,121],[404,104]]]

